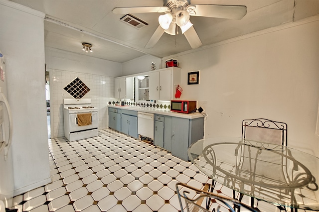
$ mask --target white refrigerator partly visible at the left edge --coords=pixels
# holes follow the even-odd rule
[[[0,212],[12,207],[14,190],[11,156],[12,117],[6,99],[5,60],[0,51]]]

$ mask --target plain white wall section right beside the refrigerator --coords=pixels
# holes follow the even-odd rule
[[[49,182],[44,72],[44,14],[1,0],[0,48],[6,57],[13,116],[14,195]],[[30,54],[31,52],[31,54]]]

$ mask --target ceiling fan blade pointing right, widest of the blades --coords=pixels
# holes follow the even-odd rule
[[[242,19],[247,13],[246,6],[190,4],[186,10],[193,16],[216,17],[227,19]]]

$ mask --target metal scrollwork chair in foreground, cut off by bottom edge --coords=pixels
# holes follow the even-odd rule
[[[238,200],[177,183],[176,192],[181,212],[258,212]],[[182,201],[184,200],[184,201]]]

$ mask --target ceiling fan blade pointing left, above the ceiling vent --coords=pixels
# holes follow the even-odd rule
[[[146,13],[146,12],[166,12],[167,6],[141,6],[141,7],[115,7],[112,12],[115,14]]]

